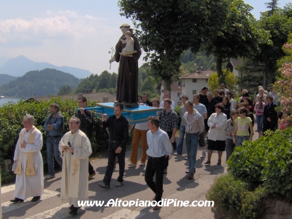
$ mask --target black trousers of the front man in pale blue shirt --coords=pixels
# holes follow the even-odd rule
[[[149,188],[155,193],[155,201],[161,201],[163,193],[163,171],[164,171],[165,156],[150,157],[145,171],[145,182]],[[153,177],[155,175],[155,183]]]

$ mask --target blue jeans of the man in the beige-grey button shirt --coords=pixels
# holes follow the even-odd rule
[[[194,168],[197,160],[197,148],[199,141],[199,133],[185,133],[185,145],[187,152],[187,160],[189,162],[189,174],[194,175]]]

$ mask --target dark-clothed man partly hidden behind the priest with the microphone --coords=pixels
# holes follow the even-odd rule
[[[93,132],[93,114],[91,110],[84,110],[87,105],[87,99],[85,96],[78,97],[78,107],[80,108],[80,111],[76,111],[75,116],[80,119],[80,130],[86,134],[88,139],[91,142],[92,139],[92,132]],[[88,162],[88,179],[90,180],[93,176],[96,175],[93,166]]]

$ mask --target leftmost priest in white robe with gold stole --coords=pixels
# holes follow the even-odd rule
[[[34,127],[35,119],[26,114],[23,118],[24,128],[20,131],[14,152],[14,163],[18,163],[14,200],[24,201],[33,197],[32,202],[40,200],[44,193],[43,161],[40,150],[43,146],[42,134]]]

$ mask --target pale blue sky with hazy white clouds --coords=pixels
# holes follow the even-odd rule
[[[259,19],[269,0],[244,0]],[[289,0],[279,0],[279,7]],[[117,0],[9,0],[0,7],[0,61],[24,55],[36,62],[70,66],[100,74],[118,70],[111,64],[122,23]],[[142,54],[143,56],[143,54]],[[139,59],[139,66],[143,63]],[[1,62],[0,62],[1,64]]]

